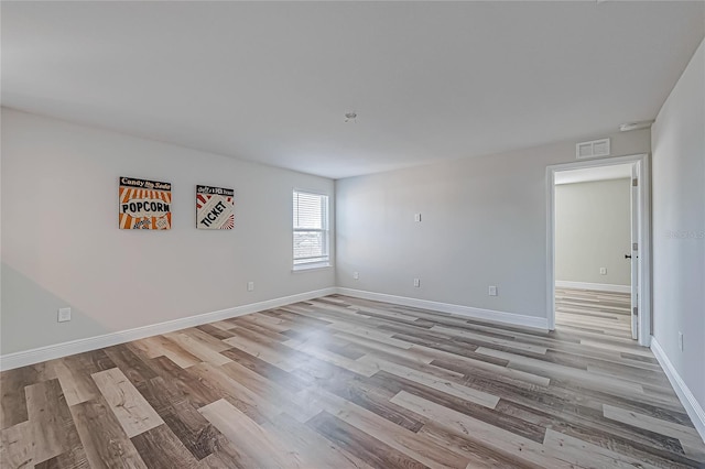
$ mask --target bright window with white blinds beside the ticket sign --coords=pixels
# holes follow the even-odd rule
[[[294,190],[294,270],[330,265],[328,196]]]

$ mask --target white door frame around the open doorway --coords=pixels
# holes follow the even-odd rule
[[[546,166],[546,318],[555,329],[555,173],[588,167],[637,165],[639,179],[639,345],[651,346],[651,175],[647,153],[609,159],[585,160]]]

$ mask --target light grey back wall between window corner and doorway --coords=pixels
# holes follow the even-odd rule
[[[610,137],[650,151],[648,130]],[[545,318],[545,171],[571,161],[562,142],[337,181],[338,286]]]

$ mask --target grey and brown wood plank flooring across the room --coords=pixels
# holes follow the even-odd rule
[[[704,468],[619,298],[542,332],[333,295],[0,374],[6,468]]]

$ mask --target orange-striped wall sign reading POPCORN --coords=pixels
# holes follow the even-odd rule
[[[120,177],[120,229],[172,228],[172,185],[158,181]]]

